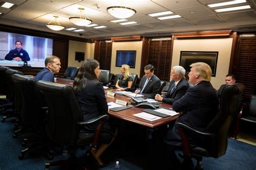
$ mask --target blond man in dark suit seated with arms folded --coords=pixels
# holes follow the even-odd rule
[[[173,103],[172,109],[180,112],[176,122],[184,123],[194,129],[205,130],[217,115],[219,105],[217,94],[210,83],[212,70],[204,62],[192,63],[190,67],[192,68],[188,74],[189,81],[194,86],[187,89],[185,95]],[[192,135],[188,134],[187,137],[190,141],[197,141],[197,138]],[[178,159],[174,150],[177,146],[182,146],[182,143],[180,134],[174,126],[167,131],[164,142],[168,144],[167,148],[172,148],[166,154],[173,160],[173,166],[175,166],[174,162],[178,162]],[[190,162],[192,164],[191,160]]]

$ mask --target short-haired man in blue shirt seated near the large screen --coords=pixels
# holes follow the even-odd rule
[[[36,81],[44,80],[54,82],[54,75],[55,73],[59,73],[60,67],[60,59],[55,55],[50,55],[46,57],[45,61],[45,68],[42,69],[35,77]]]

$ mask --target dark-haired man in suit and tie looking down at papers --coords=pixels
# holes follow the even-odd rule
[[[145,75],[139,82],[139,88],[135,91],[136,94],[142,94],[145,97],[154,98],[160,90],[160,79],[154,75],[154,66],[146,65],[144,67]]]

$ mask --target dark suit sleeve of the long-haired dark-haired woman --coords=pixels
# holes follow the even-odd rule
[[[109,107],[107,106],[107,101],[105,97],[105,92],[103,89],[103,85],[101,83],[98,83],[95,89],[95,93],[97,94],[97,101],[100,104],[100,112],[103,114],[107,114],[107,111],[109,110]]]

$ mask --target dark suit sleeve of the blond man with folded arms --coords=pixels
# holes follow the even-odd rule
[[[176,112],[190,110],[198,104],[198,93],[194,88],[189,88],[186,91],[186,94],[181,97],[179,100],[175,101],[172,104],[172,109]]]

